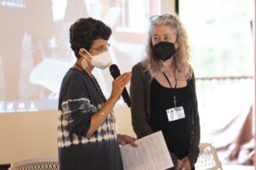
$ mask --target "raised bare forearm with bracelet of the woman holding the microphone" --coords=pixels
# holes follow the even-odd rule
[[[86,133],[86,138],[89,138],[91,134],[95,133],[96,129],[102,125],[102,123],[107,119],[108,115],[111,111],[113,111],[113,107],[118,99],[110,97],[100,111],[97,111],[93,116],[90,118],[90,128]]]

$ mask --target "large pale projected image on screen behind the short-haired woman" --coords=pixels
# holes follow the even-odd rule
[[[112,28],[113,63],[121,72],[131,71],[145,56],[149,16],[160,12],[153,2],[0,0],[0,112],[57,108],[62,77],[76,60],[68,30],[82,17]],[[94,76],[108,98],[113,81],[108,69],[95,69]]]

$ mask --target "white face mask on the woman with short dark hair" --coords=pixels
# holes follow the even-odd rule
[[[89,54],[86,49],[84,49],[84,50],[87,54]],[[85,56],[83,56],[83,57],[84,57],[84,59],[87,59]],[[90,55],[90,57],[91,57],[91,59],[90,59],[91,65],[96,66],[97,68],[102,69],[102,70],[106,69],[112,63],[112,59],[111,59],[111,56],[110,56],[108,50],[101,54],[97,54],[94,56]]]

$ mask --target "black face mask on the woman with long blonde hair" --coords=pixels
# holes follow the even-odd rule
[[[172,42],[158,42],[154,45],[154,55],[163,61],[171,59],[175,54],[175,45]]]

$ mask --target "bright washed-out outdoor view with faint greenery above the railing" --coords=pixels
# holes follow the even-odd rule
[[[181,0],[196,77],[253,75],[250,0]]]

